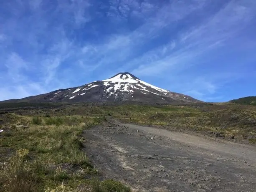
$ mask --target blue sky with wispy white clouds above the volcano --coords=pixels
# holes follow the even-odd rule
[[[0,2],[0,100],[127,71],[203,101],[256,95],[256,0]]]

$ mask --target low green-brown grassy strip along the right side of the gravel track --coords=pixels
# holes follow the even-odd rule
[[[221,137],[256,140],[256,107],[239,105],[163,106],[129,108],[113,116],[123,122],[158,126],[176,131],[217,133]]]

